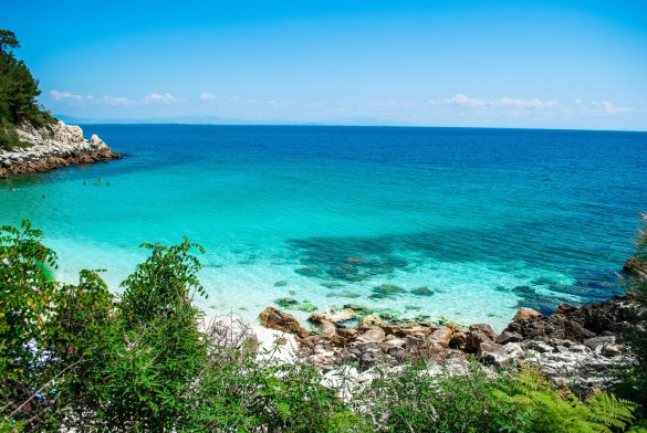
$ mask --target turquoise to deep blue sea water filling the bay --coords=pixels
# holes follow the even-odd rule
[[[59,278],[105,268],[115,292],[145,258],[139,243],[187,235],[207,250],[210,315],[251,319],[290,296],[500,329],[520,306],[618,293],[647,210],[645,133],[84,130],[126,158],[0,181],[0,223],[30,219],[59,254]],[[386,284],[401,291],[376,289]]]

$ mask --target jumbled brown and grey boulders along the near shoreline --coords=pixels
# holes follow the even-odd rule
[[[294,335],[301,356],[324,374],[345,366],[359,382],[369,380],[374,368],[415,358],[452,370],[467,368],[473,358],[491,368],[533,362],[557,384],[594,389],[609,380],[611,368],[632,362],[617,341],[622,330],[634,326],[632,308],[627,296],[582,307],[562,304],[550,316],[521,308],[499,335],[487,324],[388,323],[354,305],[313,313],[310,330],[274,307],[259,318],[267,328]]]

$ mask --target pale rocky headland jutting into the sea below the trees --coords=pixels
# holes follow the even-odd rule
[[[96,135],[88,141],[79,126],[67,126],[61,120],[42,127],[22,124],[15,133],[30,146],[0,150],[0,179],[122,158]]]

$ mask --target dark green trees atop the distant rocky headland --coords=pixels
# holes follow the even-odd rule
[[[41,94],[38,80],[13,54],[12,50],[18,47],[15,34],[0,30],[0,149],[24,145],[14,131],[15,125],[29,122],[40,126],[53,122],[36,102]]]

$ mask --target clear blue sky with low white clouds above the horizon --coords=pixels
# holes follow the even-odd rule
[[[55,115],[647,130],[647,1],[12,1]]]

